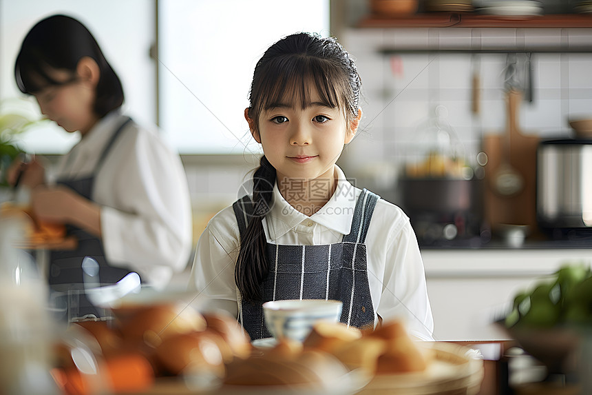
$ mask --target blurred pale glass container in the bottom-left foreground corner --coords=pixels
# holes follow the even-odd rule
[[[55,327],[45,308],[45,281],[32,257],[14,247],[24,234],[21,218],[0,218],[0,393],[54,395]]]

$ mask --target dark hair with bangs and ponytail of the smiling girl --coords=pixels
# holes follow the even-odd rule
[[[315,89],[315,92],[310,92]],[[357,118],[361,79],[354,61],[336,39],[317,34],[291,34],[271,45],[255,65],[249,92],[249,118],[259,133],[260,114],[282,103],[310,104],[311,93],[330,108],[343,108],[348,121]],[[260,285],[269,272],[262,219],[273,204],[276,172],[265,156],[253,174],[253,206],[235,267],[235,283],[244,301],[260,301]],[[271,188],[270,188],[271,186]]]

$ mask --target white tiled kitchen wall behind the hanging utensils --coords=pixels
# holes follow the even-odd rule
[[[438,105],[473,160],[484,134],[507,128],[507,54],[421,52],[416,48],[570,48],[589,45],[592,29],[349,29],[341,43],[355,57],[362,78],[364,117],[360,136],[339,161],[346,174],[372,188],[368,170],[395,168],[426,152],[421,128]],[[385,48],[400,53],[385,54]],[[512,59],[511,57],[509,58]],[[527,81],[526,54],[516,54],[516,77]],[[541,138],[569,136],[570,117],[592,118],[592,53],[533,53],[532,101],[523,100],[518,125]],[[479,112],[472,112],[473,75],[479,77]],[[526,92],[525,92],[526,93]],[[422,150],[423,145],[423,150]],[[381,166],[377,167],[377,164]],[[369,177],[369,178],[368,178]],[[393,185],[396,180],[393,180]],[[383,192],[383,191],[377,191]],[[385,191],[388,194],[388,191]],[[384,192],[383,192],[384,193]]]

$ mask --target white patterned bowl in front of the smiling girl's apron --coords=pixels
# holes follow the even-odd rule
[[[304,299],[263,303],[265,325],[275,338],[304,341],[318,321],[339,322],[341,301]]]

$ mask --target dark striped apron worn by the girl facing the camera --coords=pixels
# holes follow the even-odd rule
[[[350,234],[328,245],[267,243],[269,274],[261,285],[262,300],[239,301],[239,321],[251,340],[271,337],[262,304],[286,299],[329,299],[343,302],[341,322],[355,327],[374,325],[368,285],[366,233],[379,196],[363,190],[358,197]],[[241,236],[256,207],[249,196],[233,204]],[[240,295],[239,295],[240,298]]]

